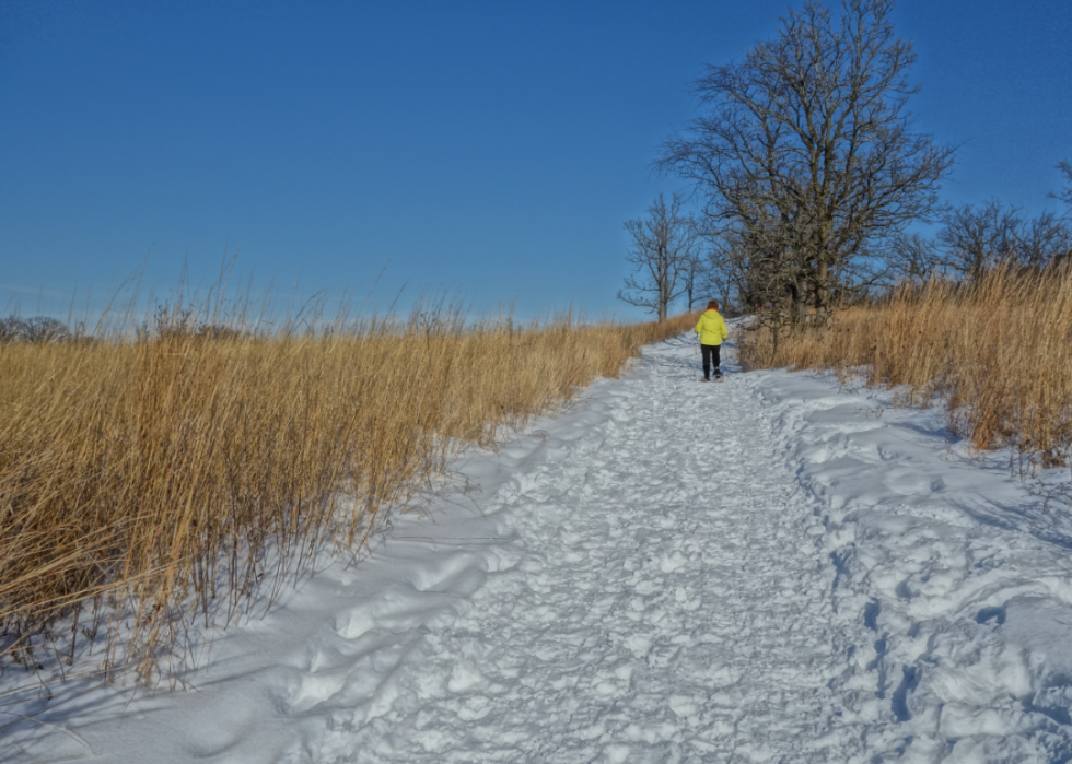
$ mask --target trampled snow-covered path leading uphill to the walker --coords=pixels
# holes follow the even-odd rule
[[[756,397],[674,344],[499,489],[516,555],[318,760],[796,761],[846,753],[822,525]],[[772,463],[773,462],[773,463]],[[466,724],[458,724],[464,720]]]

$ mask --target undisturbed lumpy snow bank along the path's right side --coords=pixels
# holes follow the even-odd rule
[[[820,499],[835,602],[873,642],[839,682],[853,712],[898,724],[902,761],[1072,757],[1072,525],[1009,454],[970,454],[939,411],[830,376],[762,375],[785,461]]]

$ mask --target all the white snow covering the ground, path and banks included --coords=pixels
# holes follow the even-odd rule
[[[470,450],[468,492],[206,632],[187,692],[10,695],[0,760],[1072,759],[1062,505],[895,392],[694,353]]]

